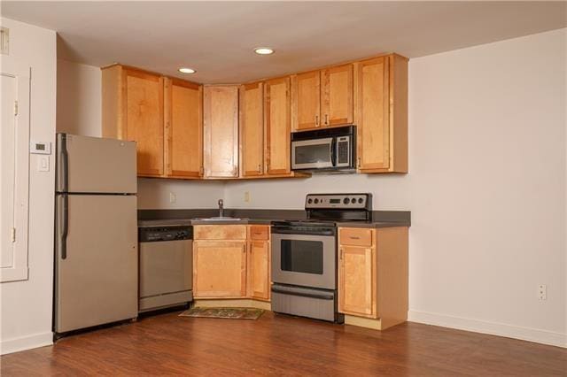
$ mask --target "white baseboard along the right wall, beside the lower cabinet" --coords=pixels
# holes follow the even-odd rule
[[[497,322],[418,311],[409,311],[408,321],[423,323],[426,325],[456,328],[475,333],[504,336],[522,341],[538,342],[556,347],[567,348],[567,334],[555,333],[553,331],[540,330],[537,328],[519,327]]]

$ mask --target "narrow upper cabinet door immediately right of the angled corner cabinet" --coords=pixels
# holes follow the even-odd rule
[[[240,152],[242,175],[264,172],[264,94],[261,82],[240,88]]]

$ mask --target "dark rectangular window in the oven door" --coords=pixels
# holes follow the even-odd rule
[[[281,269],[293,273],[323,273],[323,242],[281,241]]]

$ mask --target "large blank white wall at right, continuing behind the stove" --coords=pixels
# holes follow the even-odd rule
[[[372,192],[412,212],[411,319],[565,345],[565,50],[563,29],[412,59],[410,173],[229,183],[226,206]]]

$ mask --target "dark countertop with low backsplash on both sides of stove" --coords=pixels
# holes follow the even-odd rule
[[[138,227],[187,225],[270,225],[282,219],[305,219],[303,210],[248,210],[225,209],[225,215],[237,218],[227,221],[210,221],[198,218],[218,216],[218,210],[138,210]],[[372,221],[338,221],[338,227],[410,227],[409,211],[373,211]]]

